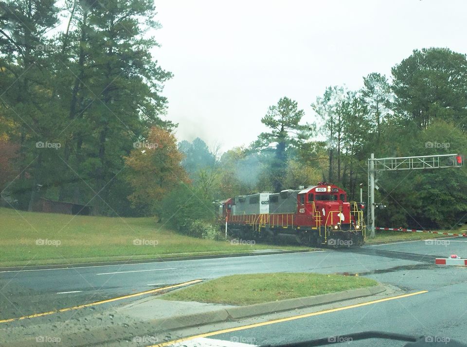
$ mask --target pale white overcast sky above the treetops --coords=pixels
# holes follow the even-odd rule
[[[168,119],[179,140],[222,151],[265,131],[269,105],[287,96],[315,121],[310,104],[331,85],[362,86],[413,49],[467,52],[466,1],[155,0],[162,29]]]

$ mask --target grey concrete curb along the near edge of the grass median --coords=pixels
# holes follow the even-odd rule
[[[235,321],[240,318],[258,316],[262,314],[289,311],[304,307],[330,304],[337,301],[355,299],[357,297],[370,296],[382,293],[388,288],[382,284],[373,287],[347,290],[339,293],[300,297],[281,301],[265,302],[247,306],[236,306],[211,312],[195,313],[174,316],[170,318],[153,319],[152,324],[157,324],[158,329],[175,330],[190,328],[204,324],[212,324],[223,321]]]

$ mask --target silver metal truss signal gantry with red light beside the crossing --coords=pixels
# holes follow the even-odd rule
[[[375,173],[377,171],[459,168],[463,165],[463,156],[460,154],[375,158],[375,154],[372,153],[371,157],[367,160],[368,205],[370,206],[368,225],[371,225],[370,238],[375,237]]]

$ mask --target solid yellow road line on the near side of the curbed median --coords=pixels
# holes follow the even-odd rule
[[[288,322],[290,320],[295,320],[295,319],[300,319],[300,318],[306,318],[306,317],[312,317],[312,316],[317,316],[320,314],[324,313],[331,313],[331,312],[338,312],[338,311],[343,311],[343,310],[348,310],[348,309],[354,309],[356,307],[361,307],[361,306],[366,306],[366,305],[372,305],[372,304],[377,304],[378,302],[384,302],[384,301],[389,301],[389,300],[394,300],[394,299],[400,299],[402,297],[408,297],[412,295],[418,295],[418,294],[423,294],[423,293],[428,293],[427,290],[422,290],[420,292],[415,292],[415,293],[409,293],[409,294],[403,294],[403,295],[397,295],[397,296],[391,296],[391,297],[386,297],[384,299],[378,299],[378,300],[373,300],[373,301],[368,301],[368,302],[362,302],[361,304],[355,304],[355,305],[349,305],[349,306],[344,306],[344,307],[339,307],[337,309],[330,309],[330,310],[324,310],[324,311],[319,311],[319,312],[313,312],[313,313],[306,313],[306,314],[300,314],[297,316],[292,316],[292,317],[287,317],[287,318],[281,318],[281,319],[274,319],[270,320],[267,322],[262,322],[262,323],[255,323],[255,324],[250,324],[250,325],[244,325],[241,327],[236,327],[236,328],[230,328],[230,329],[224,329],[224,330],[217,330],[213,332],[207,332],[204,334],[199,334],[195,336],[190,336],[190,337],[185,337],[179,340],[174,340],[174,341],[169,341],[165,342],[159,345],[153,345],[151,347],[163,347],[163,346],[170,346],[179,342],[184,342],[188,340],[193,340],[199,337],[207,337],[207,336],[213,336],[213,335],[218,335],[218,334],[224,334],[227,332],[233,332],[233,331],[238,331],[238,330],[245,330],[245,329],[251,329],[251,328],[257,328],[257,327],[262,327],[265,325],[269,324],[276,324],[276,323],[282,323],[282,322]]]

